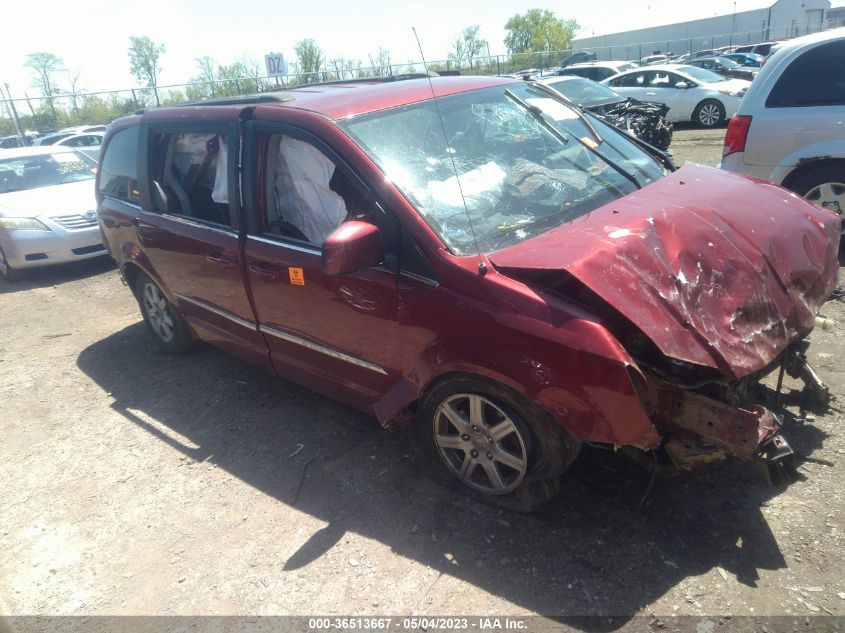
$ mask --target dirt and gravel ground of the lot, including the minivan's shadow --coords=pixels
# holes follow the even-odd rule
[[[718,163],[723,135],[676,132],[676,160]],[[786,429],[800,481],[728,463],[657,480],[638,512],[648,477],[587,450],[518,516],[430,482],[375,418],[208,346],[159,353],[108,261],[0,282],[0,614],[845,627],[845,303],[824,312],[842,325],[810,357],[839,404]]]

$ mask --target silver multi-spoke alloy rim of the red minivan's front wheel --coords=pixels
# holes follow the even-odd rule
[[[434,414],[434,443],[446,466],[479,492],[504,495],[522,483],[528,451],[519,426],[500,406],[459,393]]]

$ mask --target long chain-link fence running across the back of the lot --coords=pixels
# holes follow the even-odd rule
[[[790,27],[787,29],[761,29],[741,33],[727,33],[708,37],[675,39],[668,41],[639,42],[588,49],[567,51],[543,51],[515,55],[487,55],[462,60],[440,60],[430,62],[428,70],[441,74],[461,73],[474,75],[507,75],[519,71],[553,72],[552,69],[576,52],[589,52],[599,60],[640,60],[647,55],[680,55],[702,49],[723,46],[740,46],[766,40],[797,37],[808,32],[825,30],[828,23],[818,28]],[[132,114],[143,108],[157,105],[174,105],[207,98],[248,95],[271,90],[283,90],[304,84],[349,79],[366,79],[404,74],[423,73],[422,62],[406,64],[384,64],[381,66],[356,66],[348,64],[332,67],[331,62],[318,72],[292,73],[281,78],[270,78],[256,74],[250,77],[194,81],[185,84],[156,86],[155,88],[126,88],[103,92],[78,92],[76,94],[54,94],[49,97],[29,94],[11,95],[0,90],[0,137],[16,135],[15,118],[20,132],[45,133],[51,130],[76,125],[105,124]],[[8,90],[8,86],[6,86]],[[2,142],[2,138],[0,138]],[[9,139],[6,144],[14,144]]]

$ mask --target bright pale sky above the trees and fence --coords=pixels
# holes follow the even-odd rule
[[[760,0],[737,0],[738,11],[767,6]],[[730,13],[732,0],[708,3],[678,0],[427,0],[426,2],[338,0],[322,2],[270,0],[9,0],[3,7],[0,81],[13,96],[35,96],[23,67],[26,53],[45,50],[80,72],[88,91],[129,88],[127,48],[130,35],[148,35],[166,46],[161,83],[183,83],[197,73],[195,59],[211,55],[231,63],[239,55],[262,61],[265,53],[292,57],[296,41],[311,37],[326,56],[367,59],[379,46],[394,62],[418,60],[411,32],[415,26],[426,58],[445,59],[450,42],[466,26],[479,24],[492,54],[504,53],[504,24],[531,8],[549,9],[575,18],[581,34],[596,35]]]

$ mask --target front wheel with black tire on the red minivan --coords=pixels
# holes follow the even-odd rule
[[[411,439],[438,482],[523,513],[557,495],[581,447],[535,403],[471,376],[445,380],[424,396]]]

